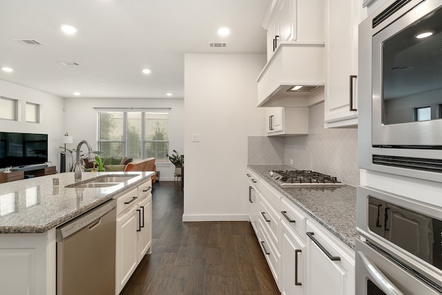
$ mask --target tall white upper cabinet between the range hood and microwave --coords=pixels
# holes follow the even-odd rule
[[[358,124],[359,1],[327,0],[325,127]]]

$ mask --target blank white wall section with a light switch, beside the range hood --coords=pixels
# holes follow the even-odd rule
[[[183,221],[247,220],[247,137],[265,135],[265,109],[256,108],[265,61],[185,55]]]

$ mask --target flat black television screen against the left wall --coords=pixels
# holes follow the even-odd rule
[[[0,168],[48,162],[48,135],[0,132]]]

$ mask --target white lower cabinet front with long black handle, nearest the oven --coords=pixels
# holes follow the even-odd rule
[[[306,294],[354,294],[354,251],[307,220]]]

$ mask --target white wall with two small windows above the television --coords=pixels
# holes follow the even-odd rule
[[[1,120],[0,131],[48,134],[48,161],[59,170],[63,98],[0,80],[0,96],[19,100],[19,120]],[[26,122],[26,102],[40,105],[40,122]]]

